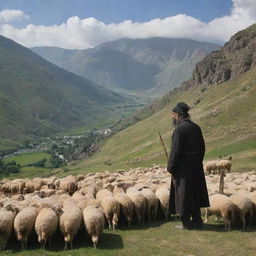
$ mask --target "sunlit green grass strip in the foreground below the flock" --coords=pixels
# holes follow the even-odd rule
[[[51,250],[41,250],[36,241],[30,241],[29,249],[21,252],[19,244],[12,241],[0,255],[255,256],[256,227],[247,228],[245,232],[224,232],[223,223],[215,223],[211,218],[202,230],[179,231],[174,228],[177,223],[157,221],[145,226],[135,225],[132,229],[121,227],[115,232],[104,230],[98,249],[92,247],[84,231],[76,238],[74,249],[65,252],[63,238],[58,233],[53,239]]]

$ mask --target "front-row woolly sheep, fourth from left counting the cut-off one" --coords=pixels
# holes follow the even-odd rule
[[[65,206],[64,202],[64,212],[59,221],[60,231],[65,241],[64,250],[68,249],[68,245],[70,245],[70,249],[73,248],[73,239],[77,235],[83,219],[83,214],[79,207],[70,202],[68,202],[68,205]]]

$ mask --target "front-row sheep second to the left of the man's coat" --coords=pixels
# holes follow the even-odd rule
[[[158,198],[152,192],[152,190],[148,188],[143,188],[141,190],[141,193],[147,200],[146,212],[147,212],[148,220],[151,221],[152,218],[153,220],[156,220],[157,211],[158,211]]]

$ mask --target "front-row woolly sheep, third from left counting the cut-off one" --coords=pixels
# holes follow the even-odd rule
[[[45,249],[46,242],[51,246],[51,238],[58,227],[58,216],[56,212],[49,207],[43,208],[35,222],[35,230],[38,235],[38,242],[41,248]]]

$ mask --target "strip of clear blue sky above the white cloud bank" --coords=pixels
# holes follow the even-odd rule
[[[20,9],[30,16],[23,25],[61,24],[70,16],[143,22],[180,13],[208,22],[227,15],[231,7],[230,0],[0,0],[0,9]]]

